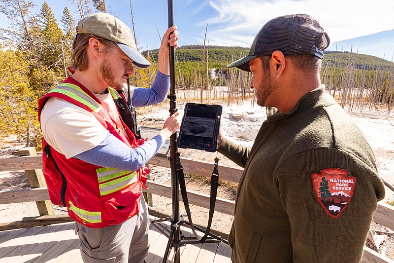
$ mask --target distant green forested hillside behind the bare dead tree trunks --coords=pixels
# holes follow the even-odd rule
[[[207,76],[209,76],[209,84],[227,86],[230,84],[228,81],[231,76],[228,74],[229,68],[226,66],[247,55],[248,52],[249,48],[243,47],[206,46],[204,49],[202,45],[180,46],[175,52],[177,83],[182,88],[196,87],[201,85],[203,77],[207,79]],[[149,54],[153,60],[157,60],[158,49],[144,51],[143,54],[146,56]],[[350,71],[355,75],[354,81],[357,83],[361,81],[361,75],[368,77],[368,81],[363,81],[363,83],[361,81],[357,85],[365,86],[365,83],[372,85],[373,82],[371,81],[377,73],[383,74],[380,79],[390,78],[389,72],[394,68],[393,62],[382,58],[334,51],[325,52],[322,65],[322,79],[331,86],[333,83],[341,85],[342,80],[347,77]],[[203,71],[205,72],[204,76],[202,76]],[[213,77],[213,74],[215,77]],[[208,82],[204,81],[204,88],[206,88]],[[382,81],[382,83],[388,86],[393,85],[392,80]],[[391,96],[391,93],[387,96],[389,95]]]

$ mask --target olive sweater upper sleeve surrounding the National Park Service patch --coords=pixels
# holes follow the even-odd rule
[[[310,167],[341,168],[357,179],[353,196],[337,218],[319,203]],[[290,157],[275,178],[291,225],[294,262],[358,263],[372,214],[385,194],[377,172],[344,150],[315,149]]]

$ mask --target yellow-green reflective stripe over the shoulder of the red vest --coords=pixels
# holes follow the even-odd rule
[[[68,97],[88,106],[92,111],[99,112],[101,105],[92,99],[86,92],[84,92],[80,87],[70,83],[62,83],[61,85],[53,88],[48,93],[59,92],[67,95]]]

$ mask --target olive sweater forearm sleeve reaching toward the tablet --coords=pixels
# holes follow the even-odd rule
[[[233,161],[235,164],[245,168],[250,153],[250,148],[233,143],[224,137],[218,151]]]

